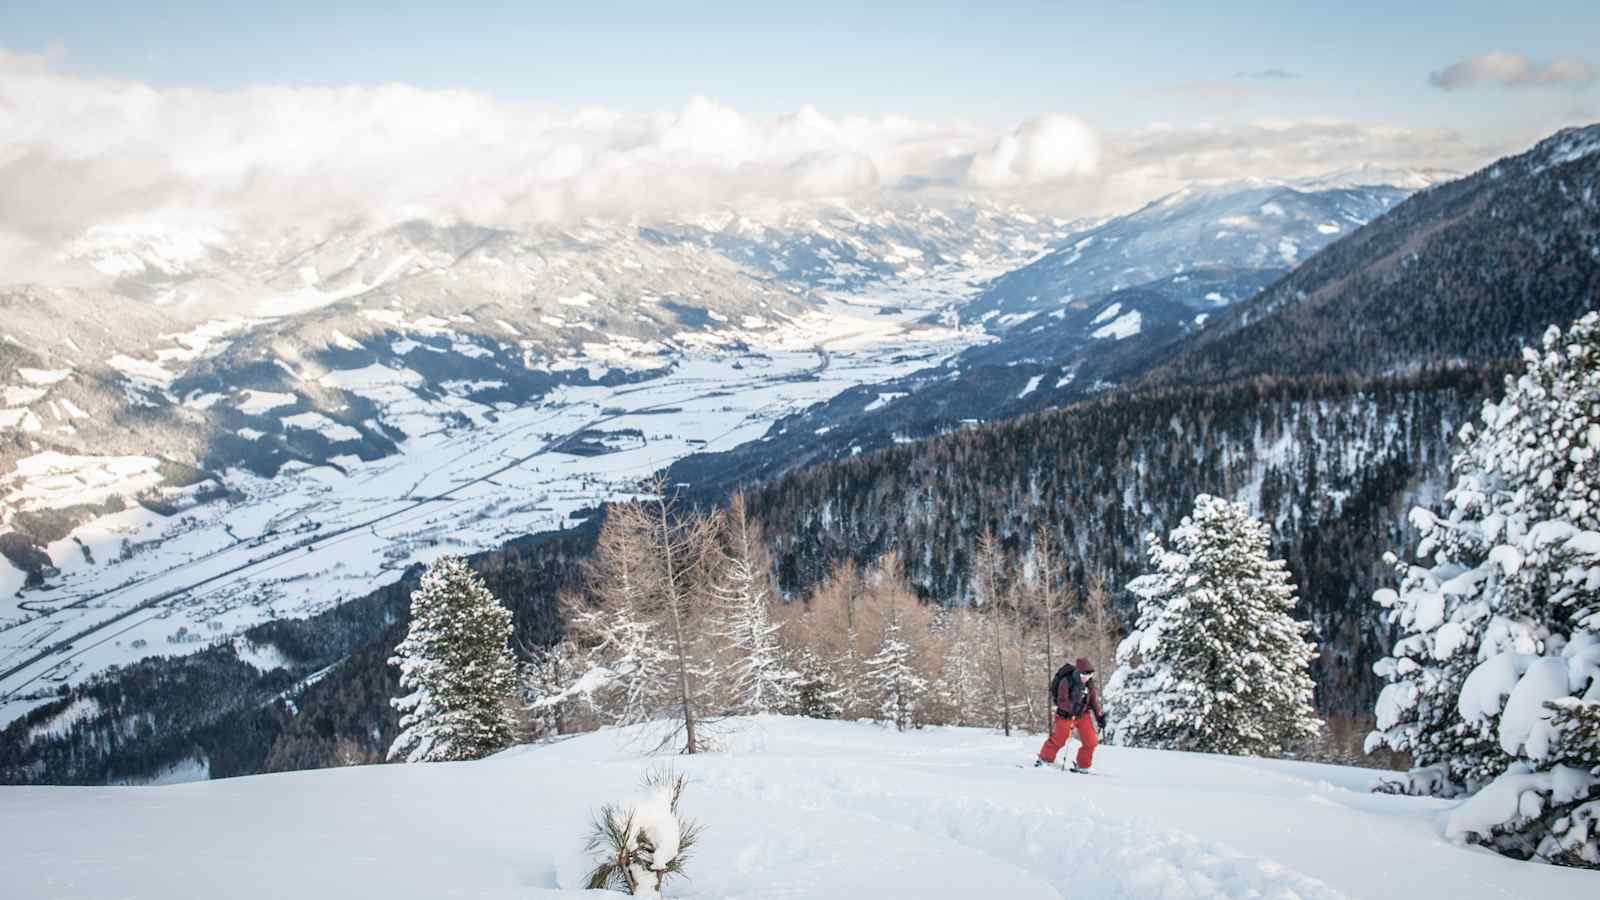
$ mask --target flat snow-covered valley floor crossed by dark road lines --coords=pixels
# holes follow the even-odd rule
[[[21,573],[0,560],[0,724],[106,666],[198,650],[363,596],[413,562],[571,524],[682,456],[757,440],[840,391],[934,365],[981,336],[918,319],[962,299],[973,277],[950,269],[824,298],[779,330],[736,333],[742,346],[683,354],[661,378],[563,388],[518,407],[475,402],[470,386],[424,396],[402,368],[331,372],[326,381],[371,399],[410,436],[398,455],[274,479],[229,471],[238,501],[104,516],[46,548],[61,570],[51,591],[18,594]],[[317,420],[288,424],[342,428]],[[62,464],[50,484],[72,496],[54,504],[144,471],[134,463]]]

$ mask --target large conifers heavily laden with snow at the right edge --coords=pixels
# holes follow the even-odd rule
[[[1600,315],[1525,351],[1453,472],[1374,594],[1400,639],[1370,746],[1411,754],[1392,790],[1472,794],[1453,836],[1600,868]]]

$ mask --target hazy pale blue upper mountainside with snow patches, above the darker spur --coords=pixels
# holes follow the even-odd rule
[[[1331,183],[1338,184],[1334,178]],[[1082,307],[1104,293],[1190,269],[1283,274],[1410,194],[1387,184],[1298,187],[1235,181],[1178,191],[1126,216],[1074,232],[1059,250],[995,279],[963,309],[992,330]],[[1197,307],[1213,290],[1194,291]],[[1242,291],[1232,291],[1238,298]],[[1221,291],[1229,296],[1230,291]]]

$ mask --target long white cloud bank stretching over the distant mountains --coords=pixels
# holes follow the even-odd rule
[[[1192,179],[1368,162],[1467,168],[1488,154],[1450,131],[1350,122],[1101,133],[1069,114],[992,128],[813,107],[758,119],[706,98],[624,114],[406,85],[157,88],[0,51],[0,263],[37,261],[91,226],[130,223],[523,227],[882,191],[1086,215]]]

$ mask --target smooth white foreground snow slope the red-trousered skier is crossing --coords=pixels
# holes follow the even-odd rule
[[[650,757],[598,732],[482,762],[160,788],[0,790],[16,900],[595,897],[603,802],[666,762],[704,826],[667,897],[1562,898],[1595,874],[1445,841],[1446,801],[1371,770],[1106,746],[1099,775],[1018,769],[1038,738],[734,721],[722,751]]]

